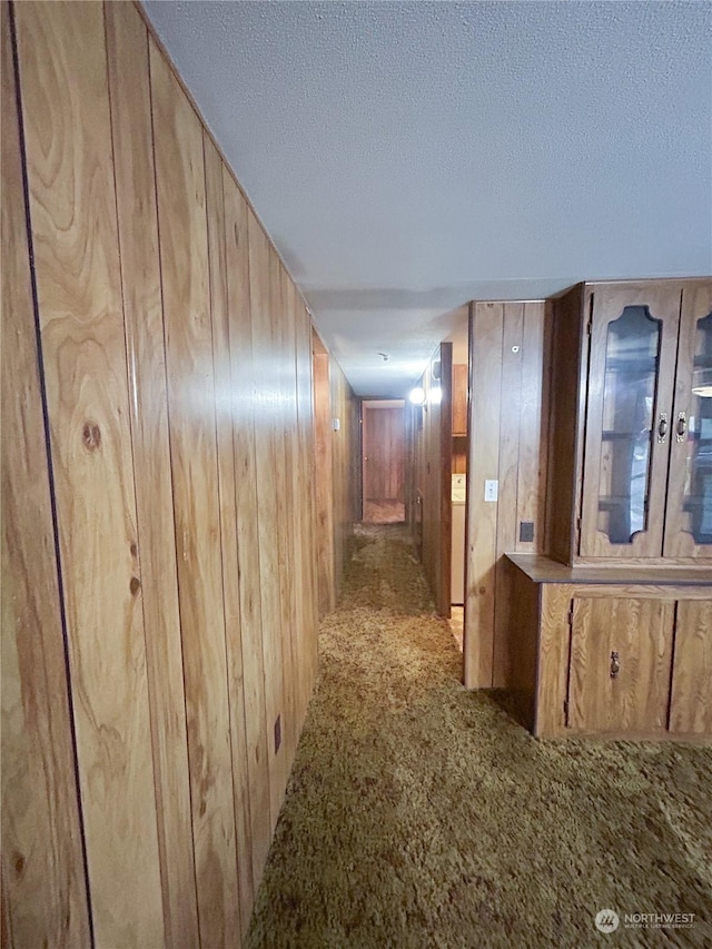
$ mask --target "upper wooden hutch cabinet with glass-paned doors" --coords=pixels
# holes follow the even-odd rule
[[[554,301],[551,552],[712,558],[712,280],[581,284]]]

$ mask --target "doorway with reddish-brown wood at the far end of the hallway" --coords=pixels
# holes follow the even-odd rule
[[[367,524],[405,521],[405,403],[362,402],[363,520]]]

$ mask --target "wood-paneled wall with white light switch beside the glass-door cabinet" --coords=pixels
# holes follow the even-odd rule
[[[505,688],[511,643],[503,554],[544,553],[548,339],[543,301],[471,305],[465,685]],[[485,481],[498,500],[485,501]],[[533,524],[533,541],[522,523]]]

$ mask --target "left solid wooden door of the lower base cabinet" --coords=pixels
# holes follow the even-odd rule
[[[574,597],[568,728],[665,731],[674,606],[673,600]]]

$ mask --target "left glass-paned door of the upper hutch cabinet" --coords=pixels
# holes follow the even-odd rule
[[[586,297],[582,557],[662,555],[681,290],[611,284]]]

